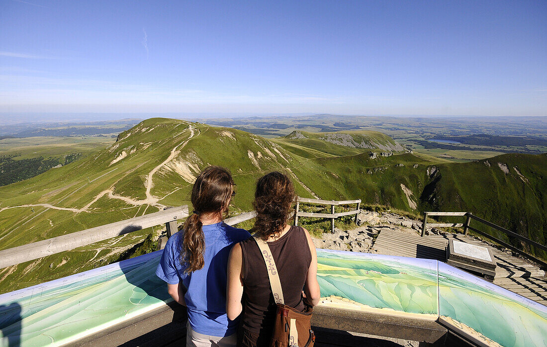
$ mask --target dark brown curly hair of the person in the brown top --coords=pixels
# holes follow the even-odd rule
[[[275,171],[261,177],[254,193],[253,207],[257,217],[253,232],[263,240],[281,233],[295,199],[294,185],[287,175]]]

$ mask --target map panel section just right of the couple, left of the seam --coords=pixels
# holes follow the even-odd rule
[[[321,304],[435,320],[437,261],[317,250]]]

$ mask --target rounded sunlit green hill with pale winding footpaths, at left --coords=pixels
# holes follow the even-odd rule
[[[283,170],[299,165],[302,158],[294,159],[280,146],[264,138],[228,128],[214,128],[193,123],[194,138],[181,148],[190,137],[190,123],[169,119],[149,119],[120,134],[120,140],[96,155],[48,171],[37,177],[0,187],[0,208],[25,204],[48,203],[55,207],[82,209],[104,190],[114,195],[130,197],[141,203],[146,197],[149,172],[164,162],[171,150],[179,145],[180,153],[174,158],[179,163],[190,163],[185,180],[173,169],[159,169],[153,176],[151,193],[166,206],[189,203],[191,175],[208,164],[229,168],[237,184],[237,196],[232,205],[235,211],[251,209],[255,181],[265,172]],[[126,156],[110,164],[120,154]],[[270,154],[269,154],[270,153]],[[253,162],[249,156],[254,156]],[[285,159],[284,159],[284,158]],[[297,185],[300,196],[311,197],[304,187]],[[153,205],[132,205],[112,199],[108,194],[98,198],[85,211],[74,212],[41,206],[15,207],[0,212],[0,249],[36,242],[65,234],[127,219],[143,213],[158,211]],[[150,231],[148,231],[149,233]],[[133,237],[133,234],[131,234]],[[140,239],[147,233],[141,232]],[[129,239],[127,237],[126,239]],[[112,242],[112,241],[110,241]],[[120,242],[119,252],[124,251],[127,240]],[[76,270],[100,266],[116,259],[117,254],[105,250],[95,256],[95,245],[60,255],[43,258],[36,262],[20,264],[16,268],[0,270],[0,291],[14,290],[37,281],[62,277]],[[112,249],[112,248],[111,248]],[[63,262],[63,258],[66,262]],[[100,261],[102,258],[102,261]],[[58,264],[63,264],[57,267]],[[53,266],[51,264],[53,263]],[[10,275],[8,272],[12,271]],[[7,276],[6,276],[7,275]],[[5,276],[5,278],[4,278]]]

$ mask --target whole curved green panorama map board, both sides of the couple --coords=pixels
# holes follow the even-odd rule
[[[62,345],[171,300],[162,251],[0,295],[0,345]],[[547,345],[547,307],[445,263],[317,250],[322,305],[439,319],[478,344]]]

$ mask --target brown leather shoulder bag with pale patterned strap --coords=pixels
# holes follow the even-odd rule
[[[270,347],[312,347],[315,343],[315,334],[313,334],[310,324],[313,308],[306,306],[306,310],[301,312],[284,304],[281,281],[270,246],[256,236],[254,240],[257,242],[266,263],[270,287],[277,304],[274,333],[270,340]]]

